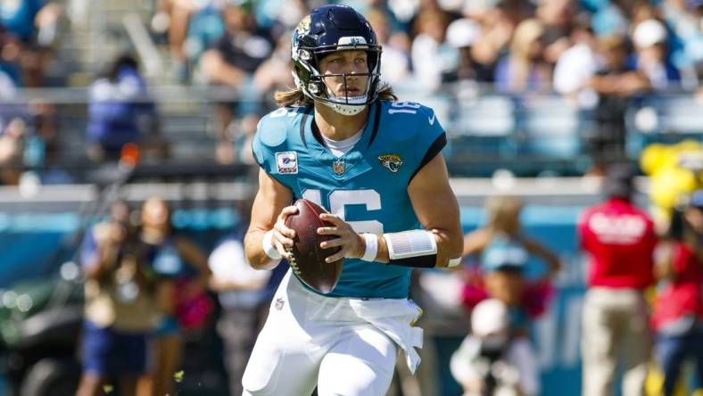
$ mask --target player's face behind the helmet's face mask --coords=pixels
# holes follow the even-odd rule
[[[360,96],[366,94],[368,59],[365,51],[349,50],[328,54],[319,62],[319,71],[325,77],[329,94],[343,96]]]

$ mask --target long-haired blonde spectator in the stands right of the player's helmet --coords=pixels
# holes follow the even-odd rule
[[[520,93],[550,88],[551,69],[543,58],[544,32],[542,22],[535,19],[517,25],[509,53],[496,66],[497,90]]]

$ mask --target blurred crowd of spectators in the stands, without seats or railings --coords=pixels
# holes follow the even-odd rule
[[[65,9],[78,3],[2,4],[0,95],[5,100],[21,87],[70,83],[66,73],[63,79],[55,71],[46,73],[72,61],[61,59],[58,49],[66,41],[62,26],[70,26],[64,23]],[[149,87],[178,83],[231,89],[231,100],[213,101],[218,142],[212,157],[224,164],[252,163],[246,147],[257,120],[272,108],[271,92],[293,85],[290,31],[318,3],[156,2],[148,26],[153,41],[168,48],[165,64],[170,66],[157,78],[145,78],[136,59],[114,54],[100,65],[104,71],[95,65],[83,70],[95,75],[87,97],[84,158],[102,163],[126,143],[146,145],[157,159],[168,158],[170,137],[168,131],[160,135],[159,103],[148,103],[145,95]],[[529,104],[535,95],[557,93],[575,109],[592,111],[598,128],[586,145],[595,162],[592,170],[600,173],[602,162],[624,158],[624,114],[630,103],[656,93],[691,95],[703,78],[703,4],[697,0],[342,3],[359,9],[376,30],[384,50],[383,78],[416,100],[459,82],[452,95],[464,100],[497,92]],[[65,34],[70,35],[70,27]],[[23,169],[37,167],[45,183],[70,180],[65,172],[50,170],[66,150],[56,112],[53,103],[40,99],[3,104],[3,184],[17,184]]]

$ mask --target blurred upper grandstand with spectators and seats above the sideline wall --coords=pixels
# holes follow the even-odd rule
[[[144,160],[196,151],[252,163],[248,141],[269,94],[293,83],[291,31],[316,4],[3,3],[2,183],[26,170],[31,181],[86,181],[85,169],[128,143]],[[699,1],[345,4],[376,29],[382,74],[401,99],[438,112],[455,174],[598,174],[673,140],[662,133],[699,132]]]

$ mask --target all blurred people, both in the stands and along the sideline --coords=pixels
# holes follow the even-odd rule
[[[274,106],[271,93],[293,85],[290,31],[319,3],[156,2],[149,26],[155,41],[169,49],[170,70],[164,73],[166,77],[150,80],[141,73],[134,56],[116,54],[112,62],[106,62],[106,72],[96,75],[88,89],[88,163],[110,163],[124,155],[126,145],[133,144],[153,153],[154,158],[168,159],[172,155],[169,136],[159,130],[159,103],[148,93],[159,84],[181,84],[232,91],[232,99],[212,103],[217,128],[212,159],[220,164],[253,165],[249,147],[259,118]],[[383,45],[382,76],[401,90],[428,97],[456,83],[451,87],[465,94],[490,87],[492,92],[524,102],[531,95],[557,93],[575,108],[593,111],[599,125],[590,142],[594,173],[605,174],[606,162],[625,160],[625,112],[631,101],[652,93],[703,97],[699,88],[703,80],[700,0],[340,3],[368,17]],[[0,4],[0,98],[6,101],[0,104],[2,185],[20,184],[27,170],[37,169],[44,183],[71,180],[66,173],[51,170],[62,146],[54,104],[45,100],[11,103],[22,87],[56,84],[43,73],[52,62],[62,62],[54,58],[53,51],[62,38],[55,34],[62,18],[59,4],[62,2],[38,0]],[[664,373],[662,393],[674,394],[687,354],[699,359],[699,381],[703,380],[701,182],[696,174],[693,186],[675,198],[675,205],[664,209],[666,224],[655,229],[650,216],[631,202],[632,169],[625,174],[622,169],[611,172],[605,201],[590,208],[578,226],[581,247],[591,258],[590,291],[583,314],[583,356],[587,360],[583,378],[590,378],[584,384],[592,388],[585,387],[583,394],[605,394],[597,386],[613,383],[618,357],[626,369],[632,369],[625,375],[623,394],[642,394],[650,352]],[[525,235],[520,225],[522,208],[523,202],[515,197],[492,197],[486,208],[489,221],[466,236],[465,265],[451,275],[459,279],[461,299],[456,302],[466,309],[461,311],[462,318],[469,318],[472,309],[476,317],[462,330],[469,334],[451,359],[451,373],[467,395],[485,394],[481,392],[486,387],[499,385],[512,386],[518,394],[540,392],[539,375],[534,372],[536,358],[526,340],[534,318],[549,309],[555,293],[551,283],[562,263]],[[244,227],[249,207],[237,209]],[[145,377],[122,378],[121,386],[144,395],[170,392],[172,373],[181,359],[179,335],[203,326],[209,304],[214,303],[206,290],[218,294],[222,309],[217,331],[226,346],[230,392],[241,393],[238,377],[276,277],[250,271],[244,262],[244,228],[228,235],[206,260],[203,252],[171,234],[166,202],[147,201],[142,214],[146,217],[137,231],[130,228],[124,212],[116,211],[114,219],[87,234],[81,247],[88,322],[79,394],[98,392],[105,372],[147,373],[145,340],[153,333],[159,334],[161,353],[170,354],[161,356],[160,366],[150,367]],[[150,222],[158,224],[150,229]],[[613,230],[623,232],[613,235]],[[101,245],[109,255],[96,253]],[[535,279],[524,273],[530,255],[547,264],[547,270]],[[621,261],[614,262],[613,257]],[[223,264],[226,262],[235,262],[237,270]],[[186,272],[183,277],[194,285],[180,279]],[[424,275],[419,275],[415,293],[426,292]],[[661,287],[650,320],[644,308],[648,304],[645,291],[657,280]],[[185,294],[192,298],[176,301],[180,305],[174,306],[171,297],[176,288],[187,290]],[[422,299],[419,295],[418,300]],[[143,311],[129,310],[137,308]],[[137,330],[138,334],[128,336],[132,338],[118,334],[119,341],[129,345],[120,351],[129,355],[120,360],[124,367],[107,367],[117,360],[101,350],[107,337],[104,326],[112,326],[116,333]],[[650,334],[655,334],[653,340]],[[616,357],[616,345],[624,341],[633,344],[632,351]],[[498,360],[515,371],[493,371]],[[430,385],[418,388],[423,386]]]

